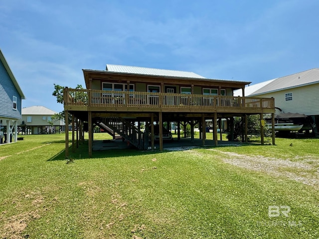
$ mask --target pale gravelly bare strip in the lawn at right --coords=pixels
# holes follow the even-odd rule
[[[304,160],[298,158],[298,162],[294,162],[296,159],[280,159],[261,155],[248,156],[217,149],[208,150],[227,155],[228,157],[222,159],[226,163],[275,176],[285,176],[319,189],[319,158],[307,157]]]

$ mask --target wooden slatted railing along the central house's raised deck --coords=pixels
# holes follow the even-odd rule
[[[274,110],[273,98],[188,95],[86,89],[64,90],[65,106]]]

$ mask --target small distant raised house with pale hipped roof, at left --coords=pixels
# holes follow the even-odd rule
[[[56,112],[44,106],[31,106],[22,109],[19,120],[21,134],[48,134],[64,131],[64,119],[52,119]]]

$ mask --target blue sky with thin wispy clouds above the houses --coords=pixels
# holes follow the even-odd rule
[[[106,64],[251,81],[319,67],[318,0],[0,0],[0,48],[26,100]]]

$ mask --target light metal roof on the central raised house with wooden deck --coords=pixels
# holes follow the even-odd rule
[[[188,72],[188,71],[174,71],[174,70],[164,70],[164,69],[136,67],[136,66],[121,66],[121,65],[107,64],[106,70],[109,72],[142,74],[142,75],[150,75],[150,76],[171,76],[171,77],[206,79],[203,76],[200,76],[196,73]]]

